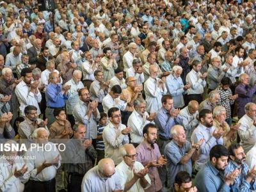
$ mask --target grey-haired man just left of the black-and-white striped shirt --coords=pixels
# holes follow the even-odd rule
[[[217,91],[211,91],[207,99],[203,100],[199,105],[199,111],[202,109],[209,109],[213,111],[216,107],[218,100],[220,99],[220,94]]]

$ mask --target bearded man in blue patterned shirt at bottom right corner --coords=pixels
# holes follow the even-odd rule
[[[231,191],[251,191],[256,189],[256,169],[253,166],[250,170],[246,163],[246,154],[239,143],[232,143],[228,147],[229,161],[225,168],[225,175],[239,170],[234,184],[230,186]]]

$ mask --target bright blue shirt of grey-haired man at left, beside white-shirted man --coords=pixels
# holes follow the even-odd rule
[[[61,84],[50,83],[45,90],[46,106],[50,108],[64,108],[65,100],[70,93],[61,93]]]

